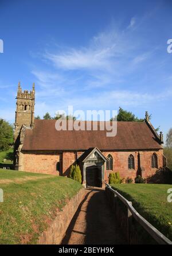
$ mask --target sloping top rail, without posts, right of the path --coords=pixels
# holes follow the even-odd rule
[[[167,238],[165,235],[163,235],[157,228],[155,228],[152,224],[147,222],[146,219],[144,219],[132,206],[132,203],[128,201],[125,197],[120,195],[118,191],[115,191],[112,189],[112,187],[105,183],[105,185],[110,189],[111,192],[113,192],[116,196],[119,197],[119,199],[127,206],[128,210],[130,210],[132,217],[140,224],[142,227],[150,234],[155,241],[157,241],[161,245],[172,245],[172,241],[170,241],[169,238]]]

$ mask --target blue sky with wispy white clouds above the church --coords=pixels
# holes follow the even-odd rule
[[[0,1],[0,117],[14,122],[18,81],[36,84],[36,115],[147,110],[172,127],[171,1]]]

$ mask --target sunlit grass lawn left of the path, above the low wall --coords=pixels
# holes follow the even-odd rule
[[[0,169],[0,188],[0,244],[20,244],[36,243],[82,186],[61,176]]]

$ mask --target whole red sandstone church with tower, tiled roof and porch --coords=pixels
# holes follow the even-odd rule
[[[111,172],[134,180],[138,174],[146,178],[166,165],[162,133],[157,134],[147,112],[143,122],[118,122],[116,136],[107,137],[105,130],[58,131],[56,120],[34,119],[34,84],[30,92],[18,84],[16,99],[17,170],[69,176],[71,165],[78,164],[83,185],[102,187]]]

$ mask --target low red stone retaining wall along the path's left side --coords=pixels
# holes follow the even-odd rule
[[[81,188],[77,195],[65,205],[63,210],[58,212],[58,215],[52,223],[50,223],[48,229],[42,232],[37,241],[38,245],[59,245],[61,243],[85,193],[85,189]]]

